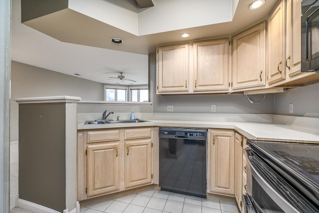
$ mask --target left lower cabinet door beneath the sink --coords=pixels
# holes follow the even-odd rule
[[[119,143],[88,145],[87,156],[88,197],[119,190]]]

